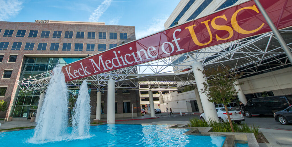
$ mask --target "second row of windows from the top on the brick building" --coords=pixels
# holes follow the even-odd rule
[[[34,42],[27,42],[24,50],[33,50]],[[48,43],[39,43],[36,50],[45,51]],[[7,50],[9,42],[0,42],[0,50]],[[22,42],[13,42],[11,50],[20,50]],[[51,43],[50,51],[58,51],[60,43]],[[71,43],[63,43],[62,51],[70,51]],[[109,49],[116,47],[117,44],[109,44]],[[86,44],[86,51],[94,51],[95,44]],[[98,44],[98,51],[105,51],[106,44]],[[83,43],[75,43],[74,51],[83,51]]]

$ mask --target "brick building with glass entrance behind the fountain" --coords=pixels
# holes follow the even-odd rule
[[[18,80],[51,70],[57,63],[66,65],[132,40],[134,26],[51,20],[0,22],[0,100],[8,103],[8,110],[0,112],[0,118],[26,120],[36,112],[40,91],[24,93],[17,85]],[[126,106],[132,103],[140,106],[138,90],[117,91],[117,95],[118,117],[130,113]],[[107,106],[106,94],[102,101]],[[95,103],[96,91],[92,90],[92,117]],[[106,108],[102,113],[106,114]],[[138,115],[138,110],[134,113]]]

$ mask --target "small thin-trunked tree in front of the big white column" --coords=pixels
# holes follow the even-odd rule
[[[204,74],[204,77],[207,78],[207,82],[202,83],[204,87],[200,89],[200,91],[207,95],[209,102],[224,104],[231,131],[234,132],[227,104],[234,100],[234,95],[239,92],[239,90],[234,89],[234,85],[243,84],[234,84],[241,74],[235,74],[229,70],[229,67],[221,66],[218,66],[217,69],[212,68],[199,71],[201,71]]]

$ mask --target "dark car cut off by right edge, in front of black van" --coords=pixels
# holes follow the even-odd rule
[[[292,106],[289,106],[284,110],[275,112],[274,118],[276,122],[280,122],[284,125],[292,123]]]

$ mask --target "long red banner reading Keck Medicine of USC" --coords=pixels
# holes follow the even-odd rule
[[[291,0],[260,1],[274,25],[292,26]],[[213,13],[62,67],[66,82],[271,32],[254,1]]]

